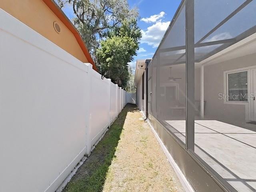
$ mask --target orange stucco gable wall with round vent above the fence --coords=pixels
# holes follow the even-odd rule
[[[0,0],[0,8],[80,61],[88,62],[74,34],[42,0]],[[60,34],[54,30],[54,21],[57,21],[61,27]]]

